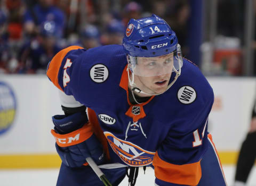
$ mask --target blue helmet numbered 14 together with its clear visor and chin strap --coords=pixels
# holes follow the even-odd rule
[[[156,77],[175,72],[174,79],[167,86],[168,90],[181,73],[183,61],[175,32],[155,14],[129,21],[123,38],[123,47],[127,54],[129,83],[132,90],[138,93],[159,94],[153,91],[146,92],[139,87],[137,82],[134,82],[134,75]]]

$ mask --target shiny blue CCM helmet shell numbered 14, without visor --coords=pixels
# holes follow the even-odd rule
[[[173,52],[177,44],[175,32],[155,14],[138,20],[131,19],[123,38],[124,49],[130,56],[166,55]]]

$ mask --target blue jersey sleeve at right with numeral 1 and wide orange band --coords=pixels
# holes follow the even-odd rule
[[[200,161],[208,147],[207,118],[213,104],[212,99],[201,109],[193,112],[194,119],[186,116],[169,131],[157,149],[153,165],[156,185],[197,185],[201,179]]]

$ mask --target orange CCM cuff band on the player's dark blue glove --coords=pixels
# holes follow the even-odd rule
[[[89,139],[93,134],[92,127],[88,124],[85,124],[81,129],[67,134],[58,134],[53,129],[51,130],[51,133],[60,147],[77,145],[78,143]]]

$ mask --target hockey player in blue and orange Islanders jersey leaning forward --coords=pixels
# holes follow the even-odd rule
[[[134,185],[140,166],[154,168],[155,185],[226,185],[207,133],[212,88],[163,19],[131,19],[123,45],[63,49],[47,77],[65,112],[52,117],[57,185],[103,185],[87,157],[112,185],[125,174]]]

